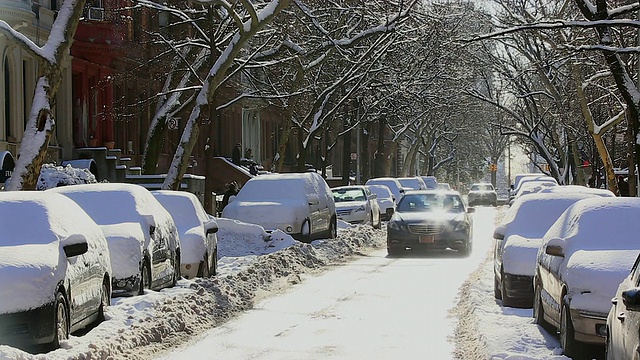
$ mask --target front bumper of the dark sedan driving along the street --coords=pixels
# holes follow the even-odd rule
[[[460,249],[469,242],[469,235],[466,231],[445,231],[441,234],[433,235],[431,239],[422,238],[424,235],[409,233],[403,230],[387,230],[388,247],[410,247],[412,249],[444,250],[446,248]]]

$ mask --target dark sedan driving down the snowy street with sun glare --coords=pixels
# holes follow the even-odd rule
[[[398,256],[407,248],[451,248],[469,254],[473,246],[473,211],[455,191],[409,192],[387,223],[387,252]]]

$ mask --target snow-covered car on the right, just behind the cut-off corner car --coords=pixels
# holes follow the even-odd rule
[[[535,322],[559,330],[564,354],[605,344],[618,285],[640,254],[640,198],[592,198],[571,205],[538,249]]]

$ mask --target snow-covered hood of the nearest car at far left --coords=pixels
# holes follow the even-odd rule
[[[52,302],[66,263],[57,243],[0,247],[0,313]]]

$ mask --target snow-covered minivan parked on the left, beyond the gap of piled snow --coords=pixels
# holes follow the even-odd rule
[[[315,172],[264,174],[247,181],[222,211],[222,217],[280,229],[310,242],[335,238],[336,206],[333,193]]]

